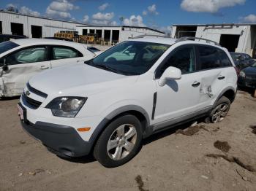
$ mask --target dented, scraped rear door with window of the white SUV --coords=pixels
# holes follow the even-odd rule
[[[201,77],[199,108],[206,108],[213,104],[219,93],[227,86],[232,63],[227,54],[217,47],[210,45],[196,47]]]

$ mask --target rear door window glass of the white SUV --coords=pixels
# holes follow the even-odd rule
[[[201,69],[216,69],[221,67],[218,49],[210,46],[198,46]]]

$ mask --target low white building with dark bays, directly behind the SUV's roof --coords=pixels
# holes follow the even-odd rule
[[[102,42],[116,44],[143,34],[165,36],[165,33],[153,28],[140,26],[77,26],[78,34],[96,34]]]

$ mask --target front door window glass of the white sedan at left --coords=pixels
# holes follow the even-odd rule
[[[7,55],[6,63],[8,65],[22,64],[22,63],[37,63],[48,61],[46,47],[30,47],[18,52]]]

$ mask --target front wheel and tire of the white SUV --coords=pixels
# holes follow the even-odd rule
[[[94,147],[94,157],[107,168],[123,165],[140,149],[141,123],[133,115],[118,117],[103,130]]]

